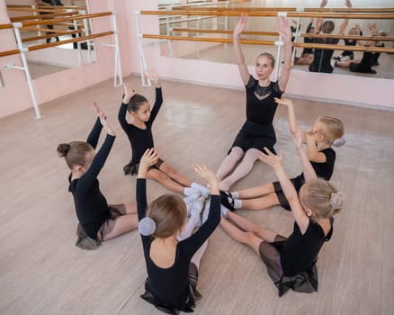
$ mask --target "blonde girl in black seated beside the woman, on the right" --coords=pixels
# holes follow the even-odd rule
[[[336,151],[332,146],[340,147],[345,143],[343,138],[344,123],[335,117],[321,116],[313,123],[310,131],[300,130],[291,100],[275,99],[282,106],[288,108],[289,129],[293,136],[298,136],[307,146],[307,157],[318,177],[330,180],[334,172]],[[305,182],[304,174],[291,178],[297,193],[300,192]],[[222,204],[229,210],[264,210],[274,205],[281,205],[286,210],[291,210],[280,182],[261,184],[256,187],[246,188],[237,192],[222,192]]]

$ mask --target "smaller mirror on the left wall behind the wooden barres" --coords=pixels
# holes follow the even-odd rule
[[[70,67],[79,67],[96,60],[94,41],[75,40],[77,37],[91,34],[88,19],[72,20],[77,14],[87,14],[85,0],[30,0],[6,1],[11,22],[33,22],[41,20],[40,25],[23,26],[20,29],[22,45],[33,49],[41,45],[52,45],[26,53],[31,78],[47,76]],[[49,19],[70,18],[69,21],[46,23]],[[16,40],[16,38],[15,38]],[[60,44],[60,45],[57,45]]]

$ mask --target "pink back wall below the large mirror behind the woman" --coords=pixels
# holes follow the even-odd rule
[[[157,9],[157,5],[152,3],[153,1],[131,1],[129,4],[130,13]],[[132,18],[133,16],[131,16]],[[150,23],[148,19],[150,19]],[[143,32],[158,33],[157,20],[155,21],[154,17],[147,18],[146,15],[142,15],[141,22]],[[130,24],[130,29],[132,33],[130,47],[137,47],[135,23]],[[148,45],[149,40],[143,40],[143,42],[146,44],[144,52],[148,67],[154,68],[159,76],[201,85],[243,87],[236,65],[206,60],[161,57],[157,45],[153,43]],[[138,55],[134,53],[130,57],[131,71],[139,73]],[[253,67],[250,67],[250,71],[254,71]],[[292,71],[286,92],[309,99],[394,108],[394,80],[388,79]]]

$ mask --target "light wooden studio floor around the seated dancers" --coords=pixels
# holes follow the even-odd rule
[[[150,88],[139,87],[153,101]],[[165,104],[154,125],[156,148],[189,175],[195,162],[216,170],[245,119],[243,91],[163,82]],[[0,120],[0,313],[159,314],[139,298],[146,278],[136,231],[88,252],[74,246],[76,215],[67,192],[67,166],[58,143],[85,139],[94,123],[93,101],[103,106],[118,137],[99,176],[109,202],[134,200],[136,177],[124,176],[130,145],[117,123],[122,88],[112,80]],[[201,262],[196,314],[393,314],[394,313],[394,112],[296,101],[307,128],[320,114],[345,121],[345,147],[336,149],[332,182],[347,195],[334,236],[318,258],[318,293],[278,298],[260,258],[217,229]],[[286,112],[275,118],[277,150],[291,175],[300,172]],[[274,180],[262,163],[234,188]],[[148,182],[148,199],[166,190]],[[239,211],[265,229],[289,235],[291,213]]]

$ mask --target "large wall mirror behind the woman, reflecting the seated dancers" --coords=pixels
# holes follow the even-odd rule
[[[354,4],[345,0],[326,1],[322,6],[321,0],[302,1],[293,0],[281,2],[269,0],[252,0],[249,2],[234,3],[220,1],[217,4],[199,2],[200,6],[209,7],[336,7],[336,8],[392,8],[389,0],[377,0],[373,4],[366,0],[354,0]],[[324,3],[324,2],[323,2]],[[179,5],[196,5],[194,1],[160,1],[159,9],[168,10]],[[210,37],[231,39],[232,30],[237,23],[237,16],[159,16],[160,34],[189,37]],[[318,21],[321,20],[321,21]],[[394,54],[387,52],[356,51],[358,47],[394,48],[394,21],[356,20],[356,19],[310,19],[289,18],[293,40],[299,43],[326,43],[336,46],[349,46],[349,50],[342,49],[303,49],[294,48],[293,69],[301,71],[314,71],[335,73],[350,76],[370,76],[381,78],[394,78]],[[244,40],[277,40],[277,34],[248,34],[249,31],[274,32],[276,19],[274,17],[248,17],[246,31],[241,35]],[[191,30],[193,29],[193,30]],[[207,31],[218,30],[221,33]],[[319,31],[318,31],[319,30]],[[307,33],[311,36],[308,37]],[[323,34],[326,38],[312,38],[315,34]],[[336,36],[346,36],[345,39],[336,39]],[[372,40],[373,37],[373,40]],[[354,50],[350,49],[355,47]],[[255,64],[258,52],[269,52],[276,56],[274,46],[243,44],[246,63]],[[201,41],[171,40],[162,43],[162,55],[174,58],[199,58],[215,62],[236,63],[236,56],[232,44]],[[282,59],[282,57],[281,57]]]

